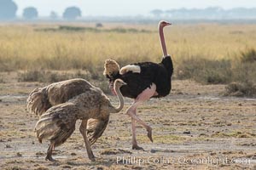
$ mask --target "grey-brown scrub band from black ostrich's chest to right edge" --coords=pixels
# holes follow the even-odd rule
[[[256,51],[241,53],[239,59],[205,59],[192,57],[182,59],[175,68],[177,79],[193,79],[207,84],[249,82],[256,83]]]

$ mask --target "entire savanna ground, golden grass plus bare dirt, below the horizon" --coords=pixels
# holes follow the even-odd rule
[[[108,93],[104,59],[117,59],[120,65],[160,60],[156,25],[0,26],[0,168],[255,169],[256,26],[174,25],[165,32],[174,60],[172,92],[138,109],[153,127],[154,143],[138,126],[144,151],[131,150],[131,118],[125,109],[132,101],[125,99],[123,111],[111,116],[92,146],[96,161],[88,159],[77,129],[56,148],[57,161],[49,162],[44,161],[48,141],[39,144],[33,133],[38,117],[26,111],[27,95],[73,77],[84,77]]]

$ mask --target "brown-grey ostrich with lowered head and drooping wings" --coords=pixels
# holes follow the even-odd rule
[[[90,145],[102,136],[108,125],[109,114],[122,110],[124,99],[119,88],[125,84],[120,79],[113,84],[119,99],[118,107],[110,103],[100,88],[84,79],[55,82],[33,90],[27,99],[27,108],[40,116],[35,126],[38,141],[50,141],[45,160],[55,161],[51,156],[52,150],[71,136],[76,121],[80,119],[82,123],[79,130],[83,135],[88,157],[95,161]]]

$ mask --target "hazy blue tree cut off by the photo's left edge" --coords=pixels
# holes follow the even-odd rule
[[[16,3],[12,0],[0,0],[0,20],[14,19],[17,9]]]

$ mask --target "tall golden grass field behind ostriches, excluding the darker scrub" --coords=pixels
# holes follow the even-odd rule
[[[124,62],[159,61],[161,58],[157,24],[106,24],[99,29],[133,28],[138,31],[125,33],[42,30],[57,27],[51,24],[0,26],[0,70],[86,69],[86,66],[102,65],[108,58]],[[255,25],[173,23],[166,27],[165,35],[168,52],[177,64],[180,59],[189,57],[232,59],[247,48],[256,48]]]

